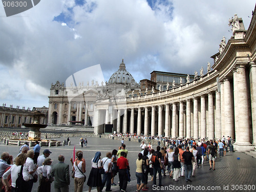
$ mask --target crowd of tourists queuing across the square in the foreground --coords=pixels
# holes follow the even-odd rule
[[[81,138],[82,144],[87,144]],[[229,142],[229,141],[228,141]],[[114,182],[118,175],[120,191],[125,192],[127,182],[131,180],[129,155],[125,149],[123,139],[122,145],[118,150],[106,153],[105,157],[101,157],[100,152],[96,152],[91,160],[90,175],[87,180],[89,192],[92,187],[96,187],[97,191],[111,191],[111,186],[117,185]],[[209,169],[215,170],[215,160],[217,150],[219,148],[220,156],[225,156],[227,144],[223,136],[222,141],[219,140],[199,140],[193,139],[169,139],[166,140],[167,146],[157,146],[154,148],[151,142],[146,144],[142,142],[141,152],[136,160],[136,178],[137,192],[148,190],[148,175],[151,176],[153,185],[162,186],[162,176],[169,176],[175,182],[185,179],[186,182],[192,182],[191,177],[196,175],[197,167],[200,167],[205,161],[209,162]],[[230,144],[230,143],[228,143]],[[36,141],[36,145],[30,150],[28,143],[25,142],[20,147],[19,154],[16,158],[4,152],[0,160],[0,189],[2,191],[28,191],[30,192],[33,183],[38,182],[38,192],[51,191],[51,183],[54,181],[55,191],[69,191],[70,170],[66,164],[63,155],[58,156],[58,163],[51,166],[52,159],[49,157],[50,150],[45,149],[40,155],[40,145]],[[40,155],[40,156],[39,156]],[[82,191],[84,182],[86,181],[86,161],[83,158],[83,152],[77,151],[76,157],[71,159],[72,174],[74,178],[74,191]]]

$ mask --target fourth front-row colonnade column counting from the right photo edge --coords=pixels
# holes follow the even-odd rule
[[[215,93],[216,97],[216,114],[215,114],[215,138],[221,139],[221,95],[218,90]]]

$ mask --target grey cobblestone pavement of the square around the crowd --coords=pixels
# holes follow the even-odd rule
[[[58,140],[64,140],[67,138],[58,138]],[[71,145],[68,146],[53,146],[51,148],[43,146],[41,153],[45,148],[49,148],[52,154],[50,158],[54,160],[53,165],[58,162],[57,157],[59,154],[63,154],[66,159],[65,162],[70,165],[70,158],[73,154],[74,145],[76,150],[82,150],[83,156],[86,159],[86,175],[89,177],[91,170],[91,160],[95,155],[95,152],[101,152],[101,158],[105,157],[106,152],[112,152],[113,149],[118,149],[121,145],[119,140],[103,139],[103,138],[87,138],[87,147],[81,148],[79,146],[79,139],[70,138]],[[140,143],[125,141],[126,149],[129,151],[128,159],[131,167],[131,182],[127,185],[127,192],[136,191],[136,159],[138,153],[141,151]],[[155,149],[156,146],[153,146]],[[14,157],[18,154],[19,146],[0,144],[1,154],[5,151],[9,152]],[[240,158],[239,160],[237,158]],[[209,162],[204,161],[202,167],[196,169],[196,176],[191,177],[192,182],[185,182],[185,178],[181,177],[178,182],[175,182],[172,178],[162,176],[162,184],[165,188],[157,188],[153,186],[151,176],[148,177],[148,191],[256,191],[256,159],[252,156],[246,155],[242,152],[227,153],[225,157],[217,157],[216,170],[209,170]],[[118,182],[118,176],[115,177],[115,183]],[[157,179],[158,184],[158,179]],[[32,191],[37,191],[38,182],[34,183]],[[105,189],[105,188],[104,188]],[[103,189],[103,191],[104,191]],[[248,190],[250,189],[250,190]],[[51,191],[54,191],[54,184],[52,183]],[[71,178],[70,191],[74,191],[74,179]],[[88,191],[87,182],[84,183],[83,191]],[[94,188],[94,190],[96,189]],[[119,191],[118,186],[112,186],[112,191]]]

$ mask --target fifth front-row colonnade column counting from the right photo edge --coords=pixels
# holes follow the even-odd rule
[[[209,139],[214,139],[214,97],[212,93],[208,94],[208,133],[207,137]]]

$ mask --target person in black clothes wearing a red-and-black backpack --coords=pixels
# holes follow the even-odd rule
[[[161,175],[161,169],[163,167],[161,162],[162,154],[160,152],[160,146],[157,146],[157,151],[155,151],[152,154],[151,161],[153,163],[153,185],[157,184],[157,172],[159,176],[159,185],[162,186],[162,175]]]

